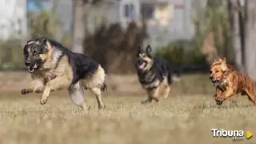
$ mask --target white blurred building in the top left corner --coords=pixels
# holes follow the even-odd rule
[[[27,36],[26,0],[0,1],[0,29],[2,40]]]

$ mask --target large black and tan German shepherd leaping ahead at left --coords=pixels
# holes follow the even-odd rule
[[[72,53],[46,37],[27,41],[23,54],[32,81],[22,89],[22,95],[42,92],[40,103],[45,104],[50,91],[67,88],[72,102],[87,111],[84,90],[89,89],[96,95],[98,108],[106,107],[102,101],[102,91],[106,91],[105,72],[98,62],[81,53]]]

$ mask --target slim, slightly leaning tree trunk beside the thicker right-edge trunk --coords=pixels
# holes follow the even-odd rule
[[[234,63],[235,67],[238,68],[238,71],[244,72],[243,64],[242,64],[242,37],[241,37],[241,29],[239,25],[239,0],[229,0],[228,1],[228,12],[230,18],[230,34],[231,34],[231,47],[234,49]]]

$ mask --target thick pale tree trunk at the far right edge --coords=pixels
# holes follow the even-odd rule
[[[246,73],[256,80],[256,1],[246,0],[245,66]]]

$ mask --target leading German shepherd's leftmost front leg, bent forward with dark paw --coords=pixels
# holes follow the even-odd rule
[[[44,88],[43,81],[41,79],[32,80],[28,88],[22,88],[22,95],[29,94],[31,92],[41,93]]]

